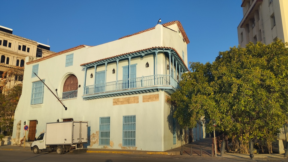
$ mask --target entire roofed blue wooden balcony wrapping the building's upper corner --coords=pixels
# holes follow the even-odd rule
[[[85,100],[163,90],[172,94],[188,71],[172,48],[151,48],[81,65]],[[91,74],[90,74],[91,73]]]

